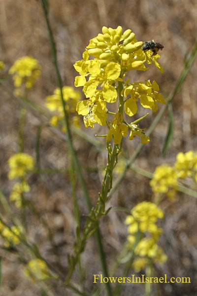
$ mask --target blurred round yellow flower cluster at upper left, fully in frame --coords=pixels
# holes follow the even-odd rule
[[[14,74],[15,87],[20,87],[22,83],[25,83],[26,88],[32,88],[35,80],[40,76],[40,65],[33,57],[24,56],[15,61],[9,74]]]

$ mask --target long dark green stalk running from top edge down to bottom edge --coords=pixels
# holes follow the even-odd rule
[[[81,166],[79,164],[76,152],[75,152],[73,144],[72,144],[72,137],[71,137],[71,131],[70,131],[70,126],[69,126],[68,114],[67,114],[67,111],[66,111],[66,108],[65,108],[65,101],[64,101],[64,97],[63,97],[63,91],[62,91],[62,87],[63,87],[62,77],[60,75],[58,60],[57,60],[56,43],[55,43],[55,39],[54,39],[53,32],[52,32],[52,29],[51,29],[51,25],[50,25],[49,18],[48,18],[47,3],[46,3],[45,0],[41,0],[41,4],[42,4],[43,11],[44,11],[44,16],[45,16],[45,20],[46,20],[46,24],[47,24],[47,29],[48,29],[48,32],[49,32],[51,48],[52,48],[52,53],[53,53],[53,62],[54,62],[55,70],[56,70],[56,75],[57,75],[57,80],[58,80],[58,84],[59,84],[59,88],[60,88],[60,93],[61,93],[61,100],[62,100],[62,106],[63,106],[63,110],[64,110],[64,118],[65,118],[65,124],[66,124],[68,148],[69,148],[70,154],[71,154],[71,156],[73,158],[73,163],[75,165],[76,172],[78,174],[80,185],[81,185],[81,187],[83,189],[83,193],[84,193],[84,196],[85,196],[85,199],[86,199],[88,209],[89,209],[89,211],[91,211],[92,202],[91,202],[91,199],[90,199],[90,196],[89,196],[87,185],[86,185],[86,183],[84,181],[84,178],[83,178],[82,168],[81,168]],[[101,265],[102,265],[103,274],[104,274],[105,277],[107,277],[108,276],[107,264],[106,264],[106,258],[105,258],[105,254],[104,254],[104,250],[103,250],[103,246],[102,246],[102,238],[101,238],[101,234],[100,234],[100,231],[99,231],[99,224],[97,226],[98,226],[98,229],[96,230],[95,237],[96,237],[97,245],[98,245],[98,248],[99,248],[100,262],[101,262]],[[108,296],[112,296],[110,283],[106,283],[106,289],[107,289]]]

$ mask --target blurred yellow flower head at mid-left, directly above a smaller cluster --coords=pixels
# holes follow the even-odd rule
[[[16,153],[9,158],[8,164],[10,167],[8,178],[15,179],[24,177],[28,171],[32,171],[34,160],[27,153]]]

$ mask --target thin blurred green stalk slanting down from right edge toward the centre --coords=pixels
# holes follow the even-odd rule
[[[195,45],[192,49],[190,58],[188,60],[188,62],[186,63],[183,71],[181,72],[178,81],[176,83],[176,86],[174,88],[174,90],[170,93],[168,100],[167,100],[167,104],[160,110],[160,112],[157,114],[157,116],[155,117],[153,123],[151,124],[150,128],[148,129],[147,132],[147,136],[150,136],[152,134],[152,132],[154,131],[155,127],[157,126],[157,124],[160,122],[162,116],[164,115],[164,112],[166,111],[166,109],[168,108],[168,104],[173,100],[173,98],[175,97],[175,95],[181,90],[183,83],[187,77],[187,74],[189,73],[192,65],[194,64],[194,61],[197,57],[197,39],[195,41]],[[125,170],[123,171],[123,173],[117,178],[113,188],[111,189],[111,191],[108,194],[108,197],[112,196],[112,194],[118,189],[118,186],[120,185],[120,183],[122,182],[123,178],[125,177],[125,174],[127,173],[128,169],[130,168],[130,166],[132,165],[132,163],[135,161],[136,157],[138,156],[138,154],[140,153],[140,151],[142,150],[142,148],[144,147],[145,144],[139,144],[135,150],[135,152],[133,153],[133,155],[131,156],[130,160],[128,161]]]

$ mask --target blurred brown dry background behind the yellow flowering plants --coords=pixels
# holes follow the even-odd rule
[[[89,40],[101,33],[102,26],[117,28],[123,31],[131,29],[137,40],[154,39],[164,45],[160,63],[164,68],[162,74],[154,65],[148,72],[137,72],[131,75],[133,81],[145,79],[156,80],[164,97],[174,89],[177,79],[184,69],[185,61],[192,50],[197,37],[197,1],[196,0],[49,0],[50,21],[53,27],[58,51],[58,60],[64,85],[73,86],[73,68],[75,61],[82,59],[82,53]],[[45,98],[57,87],[56,74],[52,62],[52,53],[43,11],[36,0],[1,0],[0,1],[0,60],[8,70],[19,57],[31,55],[42,67],[41,78],[30,94],[30,99],[44,108]],[[197,61],[195,61],[181,91],[172,102],[174,116],[174,136],[171,146],[164,157],[162,149],[168,129],[168,114],[163,116],[151,136],[151,142],[141,151],[135,165],[153,172],[157,165],[175,162],[176,154],[187,152],[197,147]],[[11,77],[6,81],[6,88],[0,94],[0,187],[6,197],[12,187],[8,181],[8,158],[18,152],[19,101],[11,93],[13,82]],[[79,89],[78,89],[79,90]],[[9,94],[10,92],[10,94]],[[82,94],[83,96],[83,94]],[[161,106],[162,107],[162,106]],[[160,107],[160,108],[161,108]],[[141,112],[141,113],[140,113]],[[148,110],[149,116],[142,122],[141,128],[149,127],[155,113]],[[140,116],[145,111],[139,111]],[[82,118],[81,118],[82,119]],[[27,113],[25,127],[25,152],[35,157],[36,133],[40,120],[46,121],[35,112]],[[103,134],[103,129],[82,129],[93,136]],[[90,190],[93,203],[98,198],[101,187],[101,176],[98,168],[106,164],[106,151],[99,151],[83,138],[73,135],[84,175]],[[105,145],[105,140],[99,139]],[[139,144],[124,139],[125,155],[130,157]],[[44,128],[40,139],[40,158],[42,168],[62,170],[68,164],[64,139]],[[66,274],[67,254],[72,254],[75,241],[75,221],[73,205],[70,198],[71,188],[68,175],[54,173],[46,175],[33,174],[30,180],[30,198],[50,224],[54,232],[63,272]],[[87,214],[80,186],[77,198],[82,215],[82,224]],[[107,204],[112,207],[131,209],[138,202],[151,200],[152,191],[149,179],[131,171]],[[161,284],[161,295],[197,295],[197,201],[184,194],[178,194],[173,201],[165,200],[162,204],[165,218],[162,222],[164,235],[160,245],[168,256],[163,266],[156,266],[160,276],[191,277],[191,284]],[[126,214],[111,211],[101,219],[100,225],[106,250],[107,262],[112,266],[114,258],[121,252],[127,238],[127,227],[124,224]],[[57,264],[47,234],[31,213],[27,219],[28,233],[38,244],[42,254],[52,263]],[[3,259],[3,280],[1,296],[34,296],[39,294],[39,287],[23,275],[23,265],[15,256],[7,256],[0,251]],[[95,256],[95,242],[90,238],[82,257],[86,273],[86,292],[94,288],[93,274],[100,274],[101,267],[98,256]],[[118,276],[118,275],[117,275]],[[119,270],[121,276],[121,268]],[[77,278],[76,278],[77,280]],[[130,292],[129,292],[130,291]],[[131,294],[128,294],[131,293]],[[142,285],[125,285],[121,295],[143,295]],[[73,292],[56,291],[57,296],[75,295]],[[104,295],[102,292],[100,295]],[[153,294],[155,295],[155,294]]]

